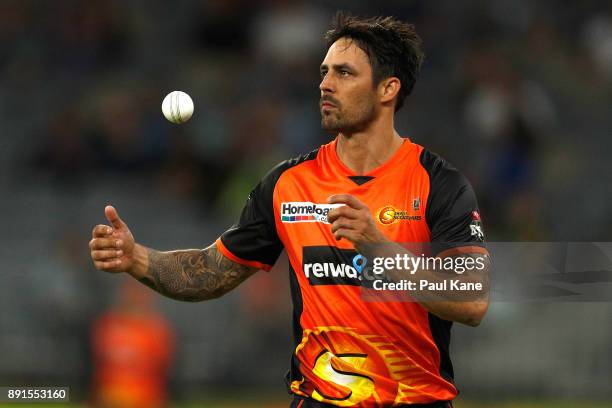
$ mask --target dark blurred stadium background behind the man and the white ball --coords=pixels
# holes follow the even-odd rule
[[[427,59],[397,128],[468,176],[490,241],[610,241],[611,5],[0,0],[0,385],[90,395],[92,323],[126,279],[89,261],[105,204],[145,245],[203,247],[267,169],[329,140],[337,9],[416,24]],[[160,111],[176,89],[195,102],[181,126]],[[173,403],[288,404],[286,260],[213,302],[156,301]],[[453,336],[458,407],[611,406],[611,303],[493,303]]]

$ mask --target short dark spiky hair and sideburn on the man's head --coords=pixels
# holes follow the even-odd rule
[[[385,78],[399,78],[402,87],[395,103],[397,112],[412,92],[425,58],[414,25],[395,17],[360,18],[338,12],[325,33],[327,48],[344,37],[355,41],[368,56],[375,85]]]

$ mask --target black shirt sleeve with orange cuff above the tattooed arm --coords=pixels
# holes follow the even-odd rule
[[[217,239],[217,248],[225,257],[266,271],[272,268],[283,250],[274,223],[272,196],[285,168],[285,162],[279,164],[255,186],[238,221]]]

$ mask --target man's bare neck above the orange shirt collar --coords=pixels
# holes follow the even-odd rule
[[[384,164],[402,145],[393,125],[373,123],[363,132],[339,133],[336,153],[342,163],[358,175],[364,175]]]

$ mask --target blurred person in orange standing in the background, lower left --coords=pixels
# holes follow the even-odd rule
[[[171,327],[155,309],[153,293],[134,280],[120,288],[118,302],[92,327],[94,407],[168,406]]]

